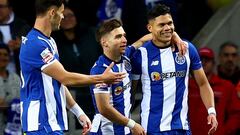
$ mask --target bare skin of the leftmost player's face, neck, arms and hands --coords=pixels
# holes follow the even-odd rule
[[[45,14],[38,15],[34,24],[34,28],[41,31],[44,35],[50,37],[53,30],[58,30],[60,28],[61,20],[63,19],[64,5],[57,8],[52,6]],[[96,83],[118,83],[122,81],[125,77],[124,73],[113,73],[110,71],[114,63],[112,63],[103,74],[101,75],[84,75],[73,72],[68,72],[64,69],[59,61],[55,61],[42,71],[43,73],[51,76],[52,78],[58,80],[61,84],[65,86],[85,86]],[[69,107],[72,107],[76,102],[73,100],[71,94],[66,89],[66,101]],[[91,122],[89,118],[84,115],[78,118],[80,121],[84,122],[83,134],[87,134],[91,128]]]

